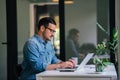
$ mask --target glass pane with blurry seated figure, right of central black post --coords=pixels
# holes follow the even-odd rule
[[[65,56],[78,57],[80,63],[98,43],[109,39],[109,0],[72,1],[64,4]]]

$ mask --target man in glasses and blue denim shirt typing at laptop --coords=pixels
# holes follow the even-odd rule
[[[31,37],[23,48],[23,63],[20,80],[36,80],[36,74],[45,70],[54,70],[75,66],[73,60],[62,62],[54,54],[51,38],[55,34],[56,22],[45,17],[39,21],[38,32]]]

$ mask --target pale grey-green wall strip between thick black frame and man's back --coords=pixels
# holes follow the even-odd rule
[[[30,36],[30,3],[17,0],[18,63],[22,61],[23,45]]]

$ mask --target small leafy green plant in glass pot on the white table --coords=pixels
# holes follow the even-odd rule
[[[96,72],[102,72],[104,68],[110,64],[109,57],[104,55],[109,54],[109,49],[106,46],[105,42],[102,42],[96,46],[95,56],[93,58],[93,63],[96,66]]]

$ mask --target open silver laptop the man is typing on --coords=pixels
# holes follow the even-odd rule
[[[75,68],[62,68],[62,69],[57,69],[57,70],[59,70],[60,72],[74,72],[76,70],[79,70],[88,63],[88,61],[93,57],[93,55],[94,53],[88,53],[86,57],[83,59],[83,61],[80,63],[80,65],[78,65]]]

